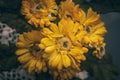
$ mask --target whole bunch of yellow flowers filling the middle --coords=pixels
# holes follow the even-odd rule
[[[16,42],[18,60],[29,73],[70,80],[82,70],[90,50],[100,60],[106,53],[107,30],[92,8],[85,12],[72,0],[23,0],[21,13],[35,27]]]

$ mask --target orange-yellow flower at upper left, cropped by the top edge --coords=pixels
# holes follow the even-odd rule
[[[23,0],[21,12],[29,24],[44,27],[56,19],[57,5],[55,0]]]

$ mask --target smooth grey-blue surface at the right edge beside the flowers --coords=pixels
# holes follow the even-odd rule
[[[120,13],[110,12],[102,15],[108,30],[105,40],[107,52],[113,56],[114,63],[120,66]]]

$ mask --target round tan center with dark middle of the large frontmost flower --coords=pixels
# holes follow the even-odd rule
[[[62,50],[69,50],[72,43],[68,37],[62,37],[58,39],[58,44],[60,44]]]

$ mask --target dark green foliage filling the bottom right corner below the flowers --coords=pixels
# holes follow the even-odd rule
[[[86,54],[87,60],[82,62],[83,70],[89,72],[92,80],[116,80],[120,74],[119,68],[113,64],[112,56],[106,54],[102,59],[98,59],[92,54],[92,50]],[[88,78],[88,80],[91,78]]]

